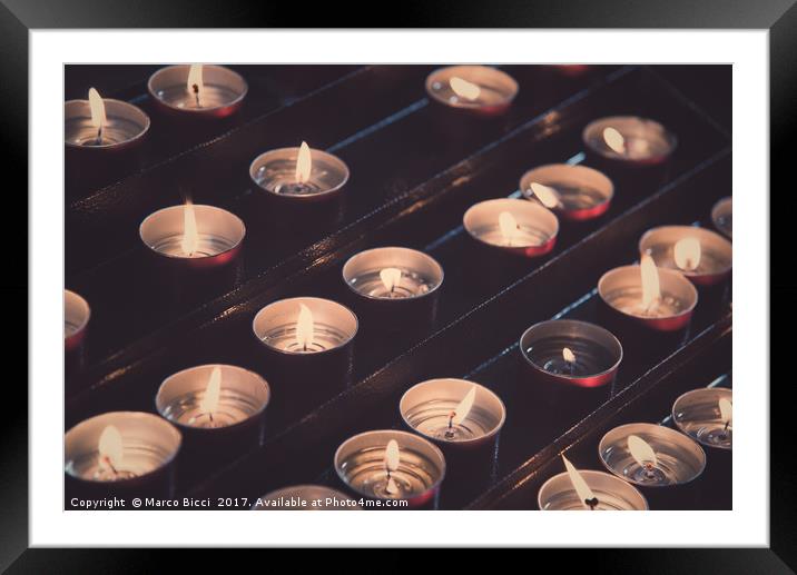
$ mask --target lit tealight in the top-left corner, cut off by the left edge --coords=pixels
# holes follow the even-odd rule
[[[138,107],[101,98],[94,88],[88,100],[63,105],[63,143],[71,149],[119,150],[141,141],[149,117]]]

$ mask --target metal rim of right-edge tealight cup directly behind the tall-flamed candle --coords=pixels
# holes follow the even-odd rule
[[[700,241],[700,248],[703,252],[712,251],[718,254],[720,257],[727,259],[728,265],[710,272],[696,272],[680,269],[678,267],[667,266],[665,269],[673,269],[680,271],[683,276],[689,278],[690,281],[699,286],[712,286],[726,279],[734,266],[734,248],[730,241],[726,238],[706,228],[698,228],[695,226],[659,226],[646,231],[639,239],[639,252],[650,254],[656,261],[656,266],[659,269],[661,267],[661,259],[656,259],[656,250],[652,248],[656,246],[666,246],[666,249],[672,249],[676,242],[683,238],[696,238]],[[675,264],[675,261],[672,261]]]

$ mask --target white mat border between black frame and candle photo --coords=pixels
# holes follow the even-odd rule
[[[289,34],[289,36],[288,36]],[[63,512],[65,62],[719,62],[734,65],[732,512],[542,514]],[[767,31],[52,31],[30,36],[30,543],[47,545],[768,544]],[[522,87],[532,89],[533,87]],[[421,93],[419,88],[419,93]],[[297,138],[301,135],[297,135]],[[60,208],[60,209],[59,209]],[[738,240],[741,238],[741,241]],[[301,454],[297,454],[301,457]],[[457,523],[455,523],[457,522]],[[451,529],[451,525],[463,528]],[[706,528],[721,525],[721,528]]]

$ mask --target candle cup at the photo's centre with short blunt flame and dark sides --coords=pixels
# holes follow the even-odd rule
[[[355,306],[381,330],[434,321],[443,268],[422,251],[387,247],[361,251],[343,266]]]

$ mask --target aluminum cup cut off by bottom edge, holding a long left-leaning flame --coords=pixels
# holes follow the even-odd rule
[[[603,472],[579,470],[598,499],[594,510],[648,510],[648,500],[639,489]],[[567,472],[548,479],[537,494],[543,512],[589,510],[579,497]]]

